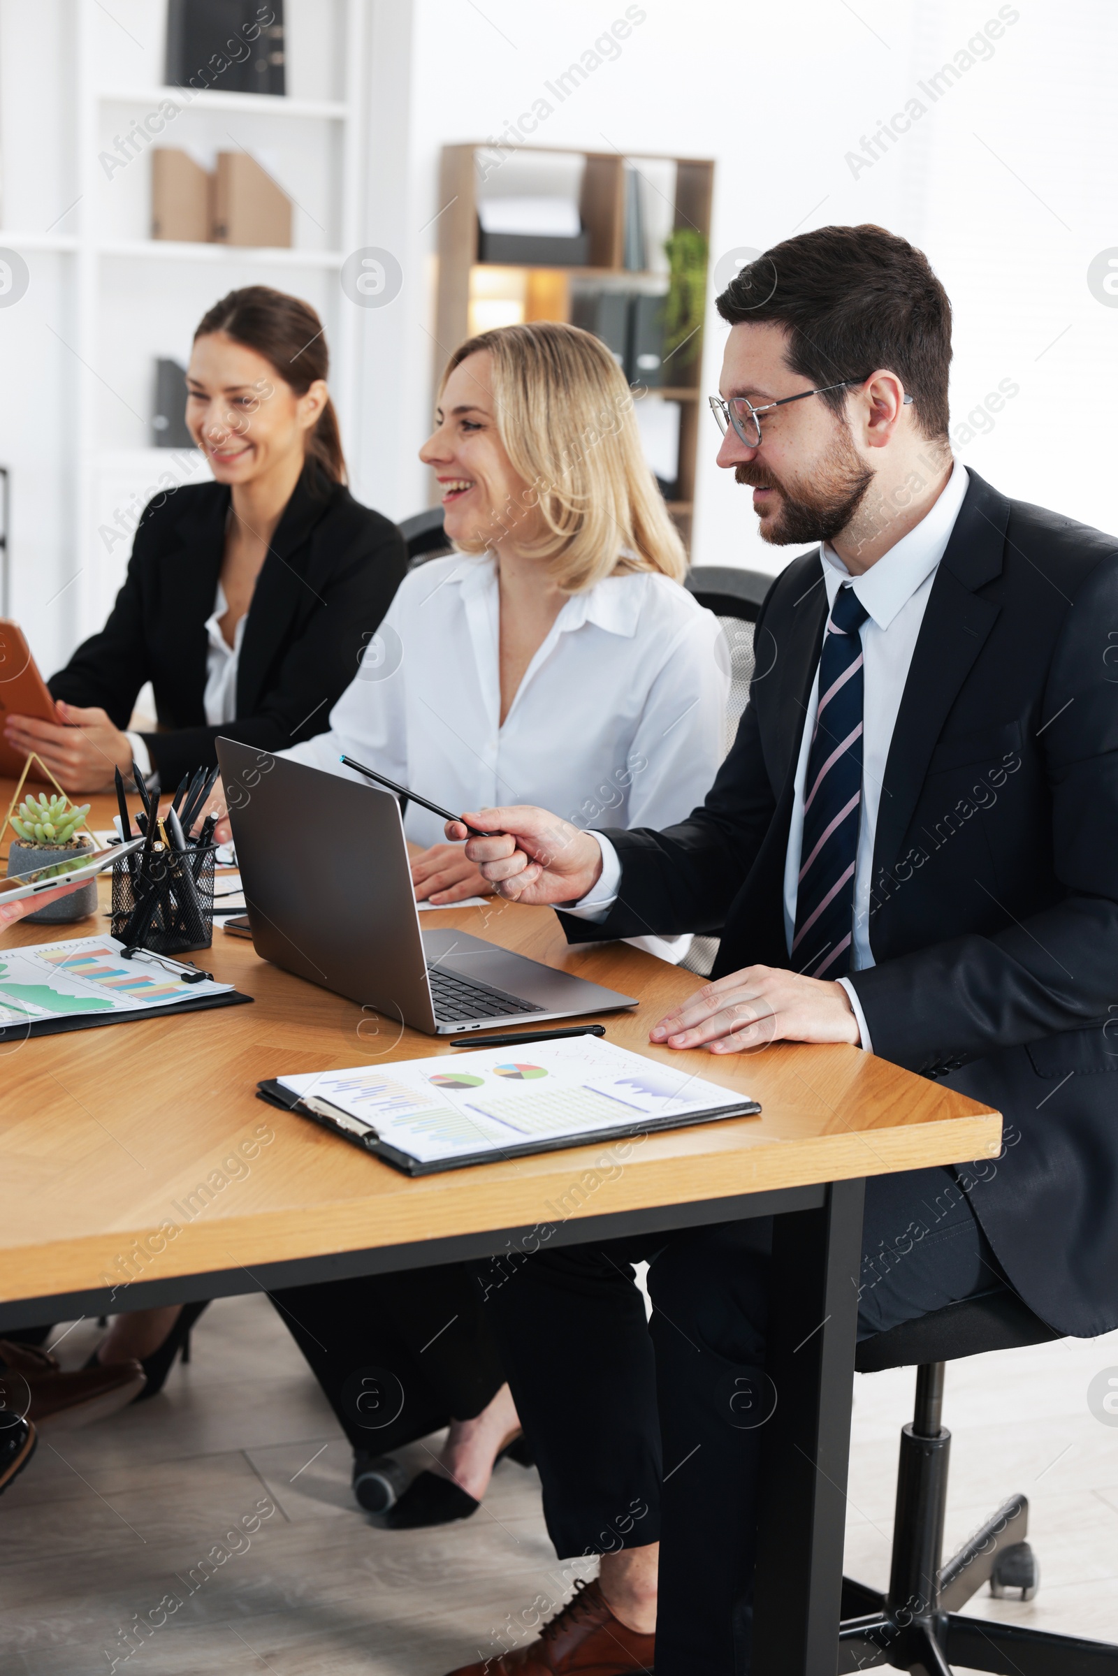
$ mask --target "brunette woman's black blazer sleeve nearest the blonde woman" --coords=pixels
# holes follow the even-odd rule
[[[327,731],[330,711],[357,674],[360,654],[407,570],[404,538],[396,525],[355,501],[349,501],[349,518],[332,520],[332,528],[315,533],[318,551],[302,580],[290,570],[277,575],[275,568],[268,578],[310,610],[302,632],[270,660],[258,699],[246,707],[238,704],[243,714],[216,727],[201,722],[144,734],[164,789],[176,786],[198,764],[215,763],[218,737],[261,751],[283,751]],[[263,583],[261,572],[256,583],[260,607],[265,605]],[[246,627],[241,645],[241,677],[248,674],[253,628],[253,623]],[[240,679],[238,696],[243,685]]]

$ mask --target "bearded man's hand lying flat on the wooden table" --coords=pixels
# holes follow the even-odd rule
[[[748,965],[696,991],[652,1026],[649,1041],[743,1053],[778,1041],[857,1048],[862,1036],[841,984],[774,965]]]

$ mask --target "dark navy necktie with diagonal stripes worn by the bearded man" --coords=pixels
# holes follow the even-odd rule
[[[835,595],[820,655],[820,707],[803,783],[803,846],[791,964],[808,977],[850,970],[862,821],[862,637],[870,613]]]

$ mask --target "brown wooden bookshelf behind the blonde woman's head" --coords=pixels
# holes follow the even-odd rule
[[[669,275],[664,272],[637,272],[625,266],[625,158],[615,151],[585,151],[582,193],[578,210],[582,225],[590,235],[590,263],[587,266],[526,266],[518,263],[486,263],[479,260],[478,243],[478,151],[481,144],[443,147],[439,203],[446,208],[439,216],[439,280],[436,307],[436,379],[443,364],[471,330],[488,323],[513,320],[570,320],[570,282],[603,280],[625,283],[634,292],[667,292]],[[533,146],[518,149],[518,159],[543,156],[570,147]],[[637,154],[634,154],[637,156]],[[640,153],[640,159],[649,153]],[[652,161],[652,159],[650,159]],[[675,203],[672,228],[694,228],[704,238],[711,233],[711,196],[714,188],[714,163],[701,158],[657,158],[675,166]],[[679,466],[675,496],[667,508],[684,538],[691,545],[691,513],[696,483],[696,447],[699,434],[699,372],[702,332],[697,347],[684,357],[682,367],[672,372],[675,382],[647,389],[645,401],[672,401],[681,406]],[[637,389],[637,385],[634,385]]]

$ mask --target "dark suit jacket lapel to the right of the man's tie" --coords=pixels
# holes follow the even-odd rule
[[[1001,610],[976,590],[1001,575],[1009,501],[974,471],[939,563],[885,763],[873,878],[890,873],[950,707]]]

